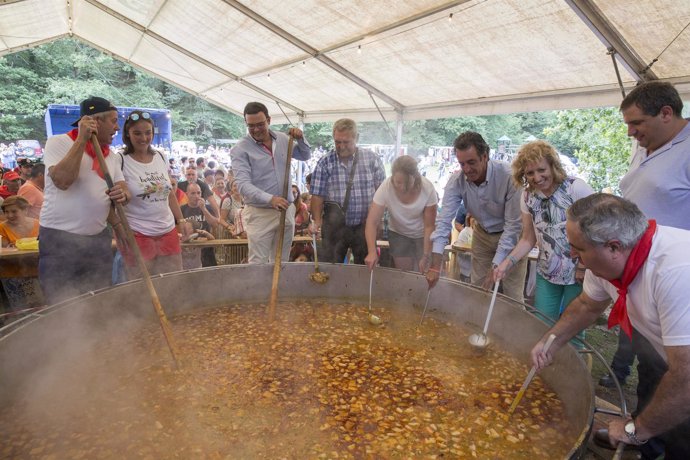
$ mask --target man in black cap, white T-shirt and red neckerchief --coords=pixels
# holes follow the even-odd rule
[[[120,129],[117,109],[90,97],[81,117],[66,134],[46,142],[45,197],[39,230],[39,281],[49,304],[110,285],[113,253],[106,222],[111,202],[126,204],[130,195],[120,162],[110,143]],[[108,190],[98,163],[96,134],[114,186]]]

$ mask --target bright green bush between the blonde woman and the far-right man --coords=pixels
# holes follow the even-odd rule
[[[546,134],[554,145],[574,149],[578,166],[594,190],[610,188],[620,194],[618,184],[628,170],[631,142],[618,109],[561,111],[557,124],[547,128]]]

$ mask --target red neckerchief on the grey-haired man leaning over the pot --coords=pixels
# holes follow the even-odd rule
[[[620,279],[609,280],[609,283],[613,284],[618,290],[618,300],[616,300],[609,314],[609,329],[620,323],[621,330],[625,331],[630,339],[632,339],[632,324],[630,324],[630,318],[628,317],[626,297],[628,295],[628,286],[637,276],[637,273],[649,256],[649,251],[652,249],[652,238],[656,231],[656,221],[650,219],[648,222],[647,230],[642,234],[642,238],[637,242],[630,252],[628,260],[625,262],[623,276]]]

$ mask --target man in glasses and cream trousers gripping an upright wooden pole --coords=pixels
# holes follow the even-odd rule
[[[285,168],[290,167],[287,164],[289,138],[268,128],[271,117],[260,102],[250,102],[245,106],[244,120],[249,134],[232,148],[230,156],[237,187],[244,198],[242,216],[249,240],[249,263],[274,260],[282,210],[286,210],[286,214],[281,260],[289,260],[295,234],[295,206],[292,200],[288,201],[283,196]],[[304,140],[302,131],[290,128],[289,134],[297,141],[292,158],[308,160],[311,147]]]

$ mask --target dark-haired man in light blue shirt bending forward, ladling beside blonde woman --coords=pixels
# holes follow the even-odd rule
[[[462,171],[453,174],[446,184],[436,229],[431,234],[433,252],[427,281],[431,287],[438,281],[451,222],[464,203],[475,222],[470,280],[488,288],[493,267],[510,254],[520,238],[522,189],[515,186],[508,163],[489,159],[489,145],[479,133],[464,132],[453,146]],[[527,259],[523,258],[503,279],[503,293],[519,302],[524,301],[526,270]]]

